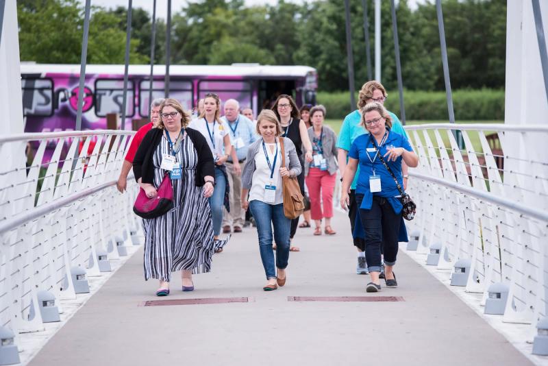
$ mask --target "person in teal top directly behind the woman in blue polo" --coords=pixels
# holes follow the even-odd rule
[[[360,125],[362,119],[362,114],[360,110],[364,108],[367,103],[371,103],[373,101],[383,104],[386,97],[388,97],[386,89],[384,89],[384,86],[382,86],[381,83],[375,80],[366,82],[362,86],[362,90],[360,90],[358,100],[358,110],[351,112],[347,115],[347,117],[345,117],[345,120],[343,121],[343,125],[340,127],[340,132],[338,135],[338,169],[341,176],[344,176],[345,168],[348,161],[348,151],[350,151],[352,143],[354,142],[354,140],[356,140],[356,138],[358,138],[358,136],[368,133],[367,130],[362,125]],[[390,115],[390,119],[392,119],[392,128],[390,131],[406,136],[407,139],[408,136],[406,134],[406,131],[403,130],[403,126],[401,125],[398,117],[390,111],[388,111],[388,114]],[[356,216],[358,214],[358,206],[356,206],[356,184],[358,183],[358,176],[360,175],[359,169],[360,168],[358,167],[358,171],[356,172],[356,178],[354,178],[351,185],[348,216],[350,219],[351,231],[354,236],[353,244],[358,249],[358,266],[356,267],[356,273],[367,274],[367,266],[365,261],[365,241],[363,237],[360,237],[359,234],[358,236],[354,235]],[[403,186],[405,187],[407,186],[408,179],[407,166],[405,164],[402,165],[402,171]],[[406,236],[405,240],[402,241],[407,241],[406,230],[400,230],[400,233],[402,235],[405,234]]]

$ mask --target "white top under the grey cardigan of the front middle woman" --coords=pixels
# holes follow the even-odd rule
[[[273,164],[274,156],[276,154],[276,147],[274,152],[271,152],[270,147],[274,144],[265,144],[266,152],[269,154],[270,163]],[[268,162],[266,162],[266,156],[264,156],[264,150],[260,147],[258,153],[255,155],[255,171],[253,172],[253,184],[251,185],[251,191],[249,191],[249,201],[257,199],[264,202],[264,186],[273,185],[276,186],[276,195],[274,204],[282,204],[284,197],[282,195],[282,175],[279,175],[279,167],[282,166],[282,147],[279,143],[276,143],[278,149],[278,157],[274,167],[274,175],[272,180],[270,179],[271,169]]]

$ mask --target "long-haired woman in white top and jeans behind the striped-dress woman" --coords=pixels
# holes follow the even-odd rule
[[[208,93],[203,99],[203,110],[198,119],[190,122],[190,128],[198,130],[205,138],[215,162],[215,191],[210,197],[215,239],[219,239],[223,223],[223,205],[228,206],[228,179],[225,162],[230,156],[232,145],[228,134],[229,127],[221,120],[221,99],[214,93]]]

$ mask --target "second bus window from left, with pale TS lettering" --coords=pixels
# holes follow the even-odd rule
[[[95,114],[97,117],[106,117],[108,113],[121,114],[123,93],[124,81],[122,79],[97,79],[95,81]],[[133,117],[134,114],[134,85],[131,80],[128,80],[125,115]]]

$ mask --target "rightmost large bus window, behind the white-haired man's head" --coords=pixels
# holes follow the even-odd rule
[[[243,80],[200,80],[198,83],[199,99],[207,93],[219,95],[221,108],[227,99],[236,99],[240,102],[240,106],[251,106],[251,82]],[[221,114],[223,114],[222,111]]]

